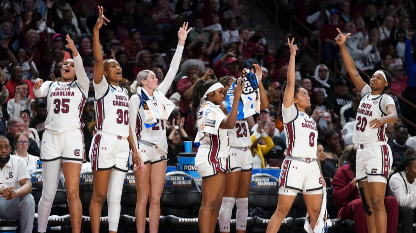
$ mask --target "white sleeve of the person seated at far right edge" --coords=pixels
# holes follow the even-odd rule
[[[406,184],[404,184],[400,174],[396,173],[391,176],[389,188],[391,195],[399,202],[399,206],[409,206],[412,209],[416,208],[416,193],[412,192],[406,195]]]

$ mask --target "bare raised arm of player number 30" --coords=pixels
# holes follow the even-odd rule
[[[98,6],[98,19],[94,26],[94,39],[92,41],[92,51],[94,54],[94,83],[99,84],[101,83],[104,75],[104,68],[103,68],[103,55],[101,53],[101,46],[100,46],[100,35],[99,29],[104,24],[107,25],[106,22],[110,22],[106,17],[104,17],[104,8]]]

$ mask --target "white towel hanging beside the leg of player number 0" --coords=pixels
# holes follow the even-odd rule
[[[327,211],[327,189],[322,188],[322,203],[321,203],[321,211],[319,212],[318,220],[316,221],[316,225],[314,230],[312,230],[309,213],[306,213],[306,221],[303,228],[307,233],[322,233],[327,232],[328,227],[332,226],[331,220],[329,219],[328,211]]]

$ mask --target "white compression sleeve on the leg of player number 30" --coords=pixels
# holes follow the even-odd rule
[[[108,204],[108,230],[117,231],[120,220],[120,201],[123,192],[125,172],[117,169],[111,169],[110,180],[107,192]]]

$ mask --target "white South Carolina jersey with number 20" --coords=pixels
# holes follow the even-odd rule
[[[374,118],[380,118],[387,115],[386,106],[394,105],[394,100],[391,96],[371,95],[370,86],[366,85],[361,91],[363,98],[357,109],[357,116],[355,118],[354,132],[352,134],[353,144],[366,144],[372,142],[387,142],[386,136],[387,124],[381,125],[379,128],[372,129],[369,122]]]

